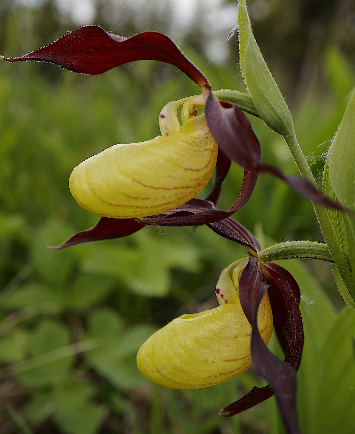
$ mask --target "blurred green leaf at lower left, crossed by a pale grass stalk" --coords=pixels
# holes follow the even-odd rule
[[[70,344],[68,328],[53,320],[43,320],[28,336],[26,347],[32,357]],[[62,358],[18,374],[23,383],[33,386],[56,384],[63,381],[73,363],[73,356]]]

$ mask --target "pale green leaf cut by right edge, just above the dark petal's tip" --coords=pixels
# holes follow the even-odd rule
[[[329,181],[338,201],[355,210],[355,94],[328,153]]]

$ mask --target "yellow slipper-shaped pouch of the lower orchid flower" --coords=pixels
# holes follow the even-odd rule
[[[229,277],[235,266],[232,277],[238,284],[247,263],[244,258],[223,270],[216,286],[217,295],[223,295],[219,307],[182,315],[141,346],[137,365],[146,378],[169,388],[197,389],[227,381],[249,368],[252,328]],[[267,344],[273,329],[268,293],[259,306],[258,328]]]

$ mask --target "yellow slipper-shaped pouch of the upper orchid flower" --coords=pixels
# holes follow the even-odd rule
[[[172,210],[195,197],[211,178],[218,152],[205,115],[196,113],[207,96],[166,104],[159,116],[161,136],[114,145],[79,164],[69,179],[75,200],[103,217],[135,218]],[[180,126],[176,111],[182,104]]]

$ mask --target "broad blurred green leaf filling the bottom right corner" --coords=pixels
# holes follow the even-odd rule
[[[346,307],[329,330],[318,360],[312,434],[346,433],[354,427],[354,335],[355,312]]]

